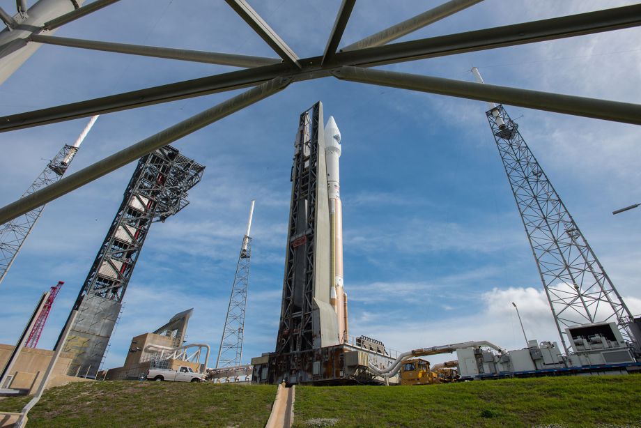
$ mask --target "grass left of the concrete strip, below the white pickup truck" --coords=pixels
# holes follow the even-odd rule
[[[274,385],[107,381],[47,391],[29,412],[29,427],[264,427]],[[20,411],[28,397],[0,400]]]

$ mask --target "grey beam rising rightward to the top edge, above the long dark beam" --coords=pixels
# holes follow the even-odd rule
[[[399,22],[399,24],[390,26],[383,31],[378,31],[376,34],[343,47],[341,51],[347,52],[350,50],[363,49],[364,47],[386,45],[392,40],[396,40],[397,38],[406,36],[418,29],[422,29],[424,26],[428,26],[433,22],[449,17],[449,15],[454,15],[454,13],[465,8],[469,8],[470,6],[474,6],[476,3],[480,3],[481,1],[483,0],[450,0],[447,3],[443,3],[440,6],[427,10],[420,15],[411,17],[409,20]]]

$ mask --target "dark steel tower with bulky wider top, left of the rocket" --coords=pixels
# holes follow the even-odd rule
[[[91,378],[98,372],[151,224],[189,204],[187,190],[204,169],[171,146],[139,160],[72,309],[78,315],[63,349],[73,355],[68,374]]]

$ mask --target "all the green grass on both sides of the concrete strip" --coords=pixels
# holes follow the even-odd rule
[[[47,391],[29,427],[264,427],[275,385],[107,381]],[[0,400],[20,411],[28,397]],[[641,376],[474,381],[423,386],[297,386],[295,426],[638,427]]]

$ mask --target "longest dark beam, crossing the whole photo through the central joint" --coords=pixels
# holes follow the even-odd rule
[[[279,76],[291,77],[293,81],[327,77],[327,75],[330,75],[330,70],[337,66],[378,66],[387,63],[412,61],[413,59],[432,58],[461,52],[493,49],[495,47],[535,43],[541,40],[552,40],[554,38],[580,36],[640,25],[641,4],[637,4],[580,15],[553,18],[551,20],[501,26],[451,36],[370,47],[357,51],[338,52],[334,56],[333,63],[326,66],[321,66],[321,56],[314,56],[300,60],[300,64],[303,66],[302,70],[290,64],[281,63],[162,86],[154,86],[139,91],[94,98],[93,100],[75,102],[33,112],[4,116],[0,117],[0,132],[79,119],[95,114],[118,112],[160,102],[231,91],[233,89],[261,84]],[[565,113],[575,114],[570,110]]]

